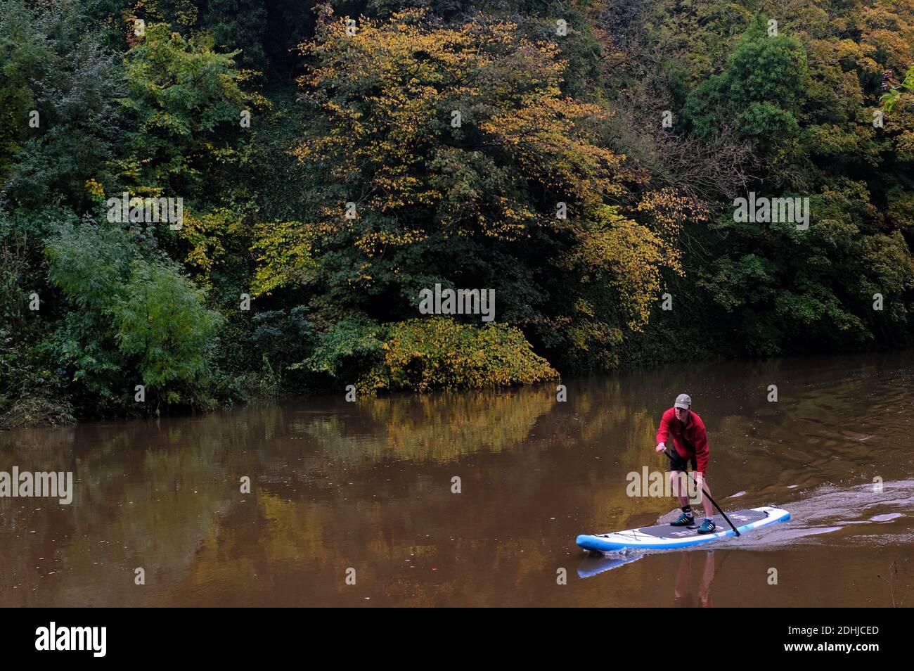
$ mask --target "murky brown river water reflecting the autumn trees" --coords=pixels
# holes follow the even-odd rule
[[[914,605],[914,353],[563,382],[0,433],[0,472],[73,474],[69,505],[0,498],[0,605]],[[585,556],[578,534],[674,517],[626,476],[666,469],[680,391],[717,502],[792,520]]]

